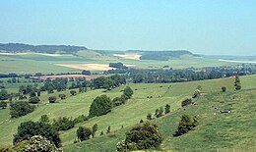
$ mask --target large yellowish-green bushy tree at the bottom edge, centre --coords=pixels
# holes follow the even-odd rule
[[[127,132],[125,140],[117,143],[116,150],[133,151],[156,148],[160,146],[161,141],[162,136],[158,126],[147,122]]]

